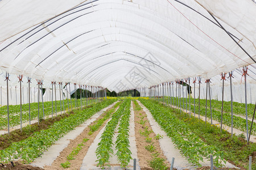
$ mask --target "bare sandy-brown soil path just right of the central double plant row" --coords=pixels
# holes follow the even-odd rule
[[[159,153],[158,157],[165,159],[166,161],[164,163],[166,163],[170,169],[171,165],[168,162],[166,156],[164,156],[163,151],[160,148],[159,141],[157,139],[155,139],[156,134],[154,132],[150,133],[148,135],[148,138],[152,138],[151,139],[152,142],[147,143],[146,137],[144,137],[140,133],[140,131],[144,131],[144,129],[146,127],[148,127],[149,131],[152,131],[152,128],[150,126],[150,123],[148,122],[146,113],[143,111],[143,109],[141,109],[141,111],[137,111],[135,109],[134,103],[133,103],[133,108],[134,108],[134,124],[135,124],[135,141],[136,141],[136,146],[137,146],[139,165],[140,165],[141,169],[142,170],[152,169],[148,165],[148,161],[150,161],[152,159],[151,158],[152,153],[150,151],[146,150],[146,148],[145,148],[145,146],[148,146],[151,143],[153,143],[153,145],[155,146],[155,152]],[[139,122],[141,121],[141,117],[143,117],[142,121],[145,122],[145,124],[143,124],[143,125],[139,124]]]

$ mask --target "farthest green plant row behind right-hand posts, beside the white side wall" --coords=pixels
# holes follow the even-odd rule
[[[174,104],[176,105],[176,99],[177,99],[177,105],[179,104],[179,98],[178,97],[166,97],[165,102],[168,104]],[[162,100],[162,99],[161,99]],[[183,97],[180,98],[181,101],[181,107],[183,108]],[[194,99],[191,97],[190,98],[191,105],[194,105]],[[200,107],[205,107],[205,99],[200,99]],[[186,98],[184,97],[184,109],[186,108]],[[187,108],[189,110],[189,97],[187,97]],[[222,101],[218,100],[207,100],[207,105],[208,107],[210,106],[210,103],[212,105],[212,109],[217,109],[218,111],[221,111],[222,107]],[[231,101],[223,101],[223,111],[228,112],[231,114]],[[199,99],[195,99],[195,104],[199,105]],[[247,104],[247,116],[252,118],[253,117],[253,112],[254,112],[254,104]],[[191,110],[193,111],[193,110]],[[233,113],[238,114],[241,116],[245,116],[245,104],[244,103],[238,103],[233,101]]]

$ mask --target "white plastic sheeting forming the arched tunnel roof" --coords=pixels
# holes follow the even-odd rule
[[[254,63],[205,9],[256,59],[251,30],[256,6],[249,0],[246,5],[238,0],[180,1],[193,10],[171,0],[65,1],[55,13],[57,1],[6,2],[0,1],[5,14],[0,15],[5,21],[0,37],[9,39],[0,42],[0,67],[11,74],[119,92],[188,77],[209,79]],[[35,8],[28,11],[19,3]],[[27,19],[35,12],[42,20]],[[64,13],[52,18],[56,12]],[[16,34],[21,29],[26,31]]]

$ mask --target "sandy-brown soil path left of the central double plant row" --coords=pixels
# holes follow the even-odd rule
[[[101,116],[99,116],[94,122],[92,122],[90,125],[94,125],[96,123],[97,120],[99,120],[100,118],[105,116],[105,113],[108,112],[111,108],[109,108],[107,111],[105,111],[103,114],[101,114]],[[109,120],[109,119],[108,119]],[[81,164],[82,164],[82,160],[84,159],[84,156],[86,155],[90,145],[92,145],[94,139],[96,138],[97,134],[100,132],[100,130],[102,128],[104,128],[104,125],[106,124],[106,122],[108,122],[108,120],[106,120],[104,122],[104,124],[102,124],[101,128],[99,128],[97,131],[94,131],[94,133],[92,135],[89,135],[89,131],[90,131],[90,125],[87,126],[84,131],[82,131],[82,133],[76,137],[75,139],[71,140],[69,145],[64,148],[63,151],[60,152],[60,155],[54,160],[54,162],[52,163],[51,166],[46,166],[44,167],[44,169],[46,170],[52,170],[52,169],[64,169],[63,167],[61,167],[61,163],[65,163],[67,162],[67,156],[69,154],[71,154],[73,148],[77,147],[77,145],[79,145],[79,143],[82,143],[83,139],[88,138],[89,140],[84,143],[84,146],[82,146],[82,149],[79,151],[79,154],[77,154],[76,156],[74,156],[74,160],[68,160],[69,163],[71,163],[71,167],[70,168],[65,168],[65,169],[80,169]]]

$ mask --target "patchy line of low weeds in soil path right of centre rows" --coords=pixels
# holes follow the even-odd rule
[[[143,130],[139,131],[139,134],[141,135],[141,137],[144,139],[144,141],[146,143],[148,143],[148,145],[144,146],[145,149],[150,152],[150,156],[151,159],[147,160],[148,165],[154,169],[154,170],[166,170],[168,169],[168,165],[165,163],[165,159],[161,158],[159,155],[159,151],[156,150],[155,147],[155,142],[153,141],[159,141],[159,139],[162,139],[162,135],[157,134],[155,135],[153,133],[152,130],[148,130],[148,126],[146,125],[146,122],[148,122],[147,120],[147,116],[146,114],[142,114],[142,113],[137,113],[138,111],[141,111],[142,108],[141,106],[138,104],[138,102],[135,100],[134,101],[134,111],[135,111],[135,115],[139,115],[139,121],[137,122],[138,124],[141,124]],[[149,122],[148,122],[149,124]],[[155,135],[155,137],[150,137],[150,134],[153,133]]]

